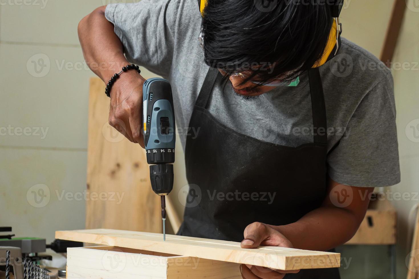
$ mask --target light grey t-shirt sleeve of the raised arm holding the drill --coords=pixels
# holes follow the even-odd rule
[[[106,6],[105,16],[115,26],[127,59],[166,76],[171,69],[177,0],[142,0]]]

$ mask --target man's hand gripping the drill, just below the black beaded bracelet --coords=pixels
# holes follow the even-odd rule
[[[109,78],[110,79],[110,78]],[[134,70],[121,73],[111,88],[109,125],[133,143],[144,147],[142,136],[142,85],[145,79]]]

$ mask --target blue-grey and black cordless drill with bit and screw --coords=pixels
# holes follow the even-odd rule
[[[172,88],[166,79],[147,79],[142,88],[144,145],[153,191],[161,199],[163,241],[166,241],[166,195],[173,189],[175,115]]]

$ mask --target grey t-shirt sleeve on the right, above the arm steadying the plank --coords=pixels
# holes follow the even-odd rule
[[[345,135],[328,154],[328,173],[334,181],[357,187],[400,182],[393,88],[389,73],[354,111]]]

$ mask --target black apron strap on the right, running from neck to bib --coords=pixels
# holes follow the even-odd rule
[[[310,81],[311,111],[313,113],[314,143],[327,144],[327,118],[323,85],[318,68],[308,70]]]

